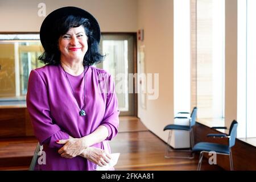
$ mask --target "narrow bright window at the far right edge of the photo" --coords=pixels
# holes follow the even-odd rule
[[[256,1],[238,0],[237,121],[238,138],[256,137]]]

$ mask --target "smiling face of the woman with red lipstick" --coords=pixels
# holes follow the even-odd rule
[[[83,26],[70,28],[59,38],[60,59],[82,61],[88,50],[87,40]]]

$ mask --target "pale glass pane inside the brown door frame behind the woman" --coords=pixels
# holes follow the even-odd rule
[[[102,52],[106,53],[105,61],[103,61],[103,69],[114,77],[118,109],[120,111],[129,110],[127,50],[127,40],[102,41]]]

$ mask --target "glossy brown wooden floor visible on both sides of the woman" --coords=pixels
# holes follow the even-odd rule
[[[0,140],[0,170],[27,170],[34,154],[34,137]],[[120,117],[119,133],[110,141],[112,153],[120,152],[116,170],[196,170],[195,159],[166,159],[166,144],[135,117]],[[222,170],[205,160],[202,170]]]

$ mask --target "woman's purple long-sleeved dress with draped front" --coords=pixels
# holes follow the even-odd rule
[[[27,109],[36,138],[44,145],[46,164],[36,163],[35,170],[94,170],[94,163],[76,156],[65,159],[58,154],[63,144],[56,140],[81,138],[92,133],[98,126],[108,128],[106,140],[94,144],[107,150],[118,133],[119,110],[113,77],[103,69],[92,66],[85,68],[85,116],[79,111],[84,105],[84,73],[67,77],[60,65],[46,65],[31,71],[28,80]]]

